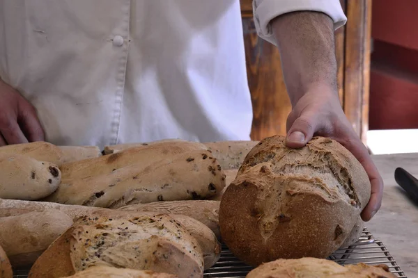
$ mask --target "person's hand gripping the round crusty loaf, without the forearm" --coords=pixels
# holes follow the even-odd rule
[[[293,107],[287,120],[286,144],[302,147],[312,136],[324,136],[341,143],[362,163],[371,182],[371,198],[362,211],[369,221],[382,203],[382,177],[371,156],[344,115],[338,95],[332,89],[316,87],[303,95]]]

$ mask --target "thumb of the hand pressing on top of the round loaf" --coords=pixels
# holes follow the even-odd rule
[[[306,117],[298,117],[291,125],[286,136],[286,145],[291,148],[300,148],[307,145],[316,131],[316,122]]]

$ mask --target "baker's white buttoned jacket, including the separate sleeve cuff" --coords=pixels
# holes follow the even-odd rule
[[[256,0],[256,28],[339,0]],[[0,78],[56,145],[249,140],[239,0],[0,0]],[[1,99],[0,99],[1,101]]]

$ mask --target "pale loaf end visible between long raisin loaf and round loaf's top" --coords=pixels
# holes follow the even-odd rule
[[[258,144],[258,141],[219,141],[204,143],[212,156],[217,158],[222,169],[238,169],[250,149]]]

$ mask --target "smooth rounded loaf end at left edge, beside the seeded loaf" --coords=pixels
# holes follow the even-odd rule
[[[72,220],[60,211],[0,218],[0,245],[13,267],[31,265],[71,225]]]

